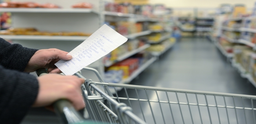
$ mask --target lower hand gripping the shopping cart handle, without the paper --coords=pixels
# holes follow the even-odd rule
[[[59,99],[69,100],[75,109],[85,107],[81,95],[81,84],[84,79],[76,76],[46,74],[38,77],[39,93],[33,107],[49,106]]]

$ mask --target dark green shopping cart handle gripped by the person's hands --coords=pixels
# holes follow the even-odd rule
[[[36,74],[42,76],[47,74],[47,71],[44,68],[40,68],[36,70]],[[53,103],[53,106],[55,112],[61,117],[64,124],[79,123],[85,120],[68,100],[58,100]]]

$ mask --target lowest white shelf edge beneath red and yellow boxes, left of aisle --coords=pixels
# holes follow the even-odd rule
[[[156,61],[156,57],[152,57],[150,60],[147,60],[142,66],[140,66],[137,70],[135,70],[130,77],[122,80],[120,83],[125,84],[131,82],[134,78],[136,78],[142,71],[144,71],[147,67],[149,67],[154,61]]]

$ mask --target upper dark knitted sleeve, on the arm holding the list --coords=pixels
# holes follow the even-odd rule
[[[20,44],[10,44],[0,38],[0,65],[6,69],[24,71],[36,49],[22,47]]]

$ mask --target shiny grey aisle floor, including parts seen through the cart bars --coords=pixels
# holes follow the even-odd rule
[[[175,44],[172,50],[168,51],[165,55],[160,57],[160,60],[151,65],[147,70],[140,74],[139,79],[133,80],[131,84],[143,85],[143,86],[157,86],[165,88],[175,88],[175,89],[186,89],[186,90],[201,90],[201,91],[212,91],[212,92],[222,92],[222,93],[238,93],[247,95],[256,95],[256,88],[246,79],[240,77],[237,70],[235,70],[230,63],[227,63],[226,58],[220,53],[220,51],[205,38],[183,38],[179,43]],[[137,98],[136,92],[134,90],[127,89],[129,98]],[[157,95],[161,101],[167,101],[166,94],[164,92],[147,91],[148,98],[150,100],[156,100]],[[138,94],[140,99],[147,99],[145,91],[139,90]],[[183,96],[182,96],[183,95]],[[126,97],[126,93],[122,90],[119,96]],[[185,94],[178,94],[179,101],[182,103],[187,103]],[[178,102],[175,93],[169,94],[169,99],[173,102]],[[196,103],[195,95],[189,95],[189,102]],[[224,106],[223,97],[216,97],[218,105]],[[226,98],[227,106],[234,106],[231,97]],[[170,100],[171,101],[171,100]],[[205,97],[203,95],[198,95],[199,104],[206,104]],[[210,105],[215,105],[214,97],[207,96],[207,101]],[[236,100],[236,106],[242,107],[242,100]],[[238,101],[238,102],[237,102]],[[139,102],[137,101],[125,101],[127,105],[132,105],[133,112],[136,113],[140,118],[145,120],[149,124],[153,124],[154,121],[158,124],[173,123],[172,114],[170,112],[170,106],[168,103],[150,102],[154,116],[151,114],[151,109],[149,103],[140,102],[142,111],[140,110]],[[254,103],[256,103],[254,101]],[[181,110],[178,104],[170,104],[172,107],[172,113],[175,118],[175,123],[186,124],[201,123],[199,116],[198,106],[181,105]],[[244,106],[251,107],[251,101],[244,101]],[[255,106],[255,105],[254,105]],[[190,111],[192,113],[192,119],[190,116]],[[162,116],[162,113],[164,116]],[[219,123],[218,114],[216,107],[209,107],[210,117],[213,123]],[[221,123],[237,123],[235,117],[236,112],[234,109],[227,109],[229,120],[227,119],[227,113],[225,108],[218,109],[220,113]],[[206,106],[200,106],[200,113],[202,116],[202,123],[210,123],[210,117]],[[251,111],[237,110],[238,122],[245,123],[244,113],[246,113],[247,123],[253,123],[253,116]],[[155,119],[155,120],[154,120]],[[229,121],[229,122],[228,122]]]

